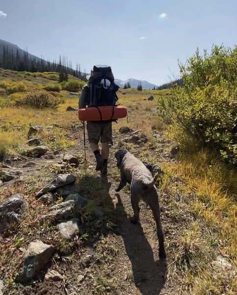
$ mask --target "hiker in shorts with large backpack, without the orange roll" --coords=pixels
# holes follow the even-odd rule
[[[81,89],[79,109],[117,105],[118,97],[115,92],[119,87],[114,84],[111,67],[105,65],[94,66],[91,75],[86,76],[86,79],[89,80],[89,83]],[[113,144],[112,121],[116,120],[103,120],[102,115],[101,120],[87,120],[86,129],[90,148],[96,157],[96,171],[100,171],[102,176],[107,175],[109,148]],[[101,152],[99,142],[101,142]]]

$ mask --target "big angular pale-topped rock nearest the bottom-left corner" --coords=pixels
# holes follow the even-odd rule
[[[31,242],[24,255],[25,261],[21,273],[16,277],[16,282],[29,282],[38,271],[48,262],[53,255],[54,247],[42,241]]]

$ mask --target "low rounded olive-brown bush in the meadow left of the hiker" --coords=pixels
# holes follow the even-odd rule
[[[21,103],[24,106],[37,109],[56,108],[60,104],[60,98],[53,96],[45,90],[32,91],[26,94]]]

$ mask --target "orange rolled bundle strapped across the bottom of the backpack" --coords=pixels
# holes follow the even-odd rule
[[[100,121],[125,118],[127,109],[124,106],[100,106],[79,109],[78,117],[81,121]]]

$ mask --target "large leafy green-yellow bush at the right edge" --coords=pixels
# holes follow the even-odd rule
[[[214,46],[203,57],[197,50],[180,71],[184,86],[158,101],[174,139],[183,145],[192,140],[237,163],[237,47]]]

